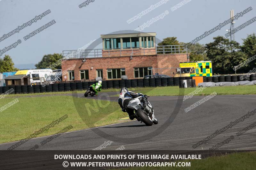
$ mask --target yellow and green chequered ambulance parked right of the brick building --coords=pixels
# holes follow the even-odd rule
[[[183,62],[174,77],[212,76],[211,61]]]

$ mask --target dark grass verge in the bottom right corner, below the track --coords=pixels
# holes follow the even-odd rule
[[[233,170],[233,169],[255,169],[256,152],[239,152],[222,156],[213,156],[206,159],[180,160],[179,162],[190,162],[190,167],[139,167],[129,168],[132,170],[153,169],[189,169],[189,170]],[[176,164],[177,165],[177,162]],[[125,170],[125,169],[123,169]]]

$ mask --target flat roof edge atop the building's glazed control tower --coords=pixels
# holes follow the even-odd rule
[[[156,33],[119,33],[119,34],[105,34],[100,35],[101,38],[125,38],[125,37],[147,37],[147,36],[156,36]]]

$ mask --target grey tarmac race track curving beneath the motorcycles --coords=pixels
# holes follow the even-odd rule
[[[116,92],[109,92],[108,94],[113,95]],[[83,97],[82,93],[78,95]],[[255,95],[217,95],[186,113],[184,111],[186,107],[204,98],[204,96],[195,96],[183,101],[173,122],[165,123],[165,125],[164,122],[173,114],[178,97],[150,97],[149,101],[153,105],[159,121],[157,125],[147,127],[138,121],[131,121],[98,127],[97,130],[105,132],[104,135],[96,134],[95,129],[84,129],[62,134],[44,146],[41,146],[40,142],[48,137],[34,138],[15,150],[28,150],[35,144],[40,146],[38,150],[92,150],[108,140],[113,141],[113,143],[107,146],[105,150],[115,150],[122,145],[124,145],[125,150],[208,150],[231,135],[234,135],[235,138],[228,144],[221,146],[220,150],[255,150],[256,127],[239,137],[236,136],[236,133],[255,122],[256,114],[243,122],[239,122],[206,144],[202,144],[196,149],[192,148],[192,145],[216,130],[227,126],[231,121],[247,114],[248,111],[254,110],[256,108],[255,97]],[[104,100],[100,96],[94,99],[96,98]],[[109,100],[116,101],[117,97],[110,97]],[[163,129],[162,133],[152,134],[152,131],[161,126],[166,128]],[[117,139],[116,137],[124,139]],[[139,142],[136,138],[139,139]],[[6,150],[15,143],[17,142],[0,144],[0,150]]]

